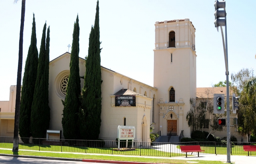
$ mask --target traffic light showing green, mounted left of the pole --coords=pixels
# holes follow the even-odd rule
[[[213,95],[213,113],[221,114],[224,113],[224,94],[216,94]]]

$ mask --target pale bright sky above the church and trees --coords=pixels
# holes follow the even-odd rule
[[[10,85],[16,85],[17,80],[22,0],[17,4],[13,1],[0,2],[0,101],[9,100]],[[155,22],[189,18],[196,28],[197,87],[211,87],[226,80],[222,37],[213,23],[214,0],[100,0],[99,5],[102,66],[153,86]],[[226,0],[230,74],[242,68],[256,70],[255,6],[254,0]],[[96,0],[26,0],[23,70],[33,12],[38,50],[44,23],[50,26],[50,60],[68,51],[68,44],[72,45],[77,14],[79,56],[87,55]]]

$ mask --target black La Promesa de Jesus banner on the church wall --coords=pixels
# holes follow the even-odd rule
[[[116,95],[115,96],[116,107],[136,107],[135,95]]]

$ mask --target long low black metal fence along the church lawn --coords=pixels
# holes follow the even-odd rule
[[[37,150],[50,152],[80,152],[98,154],[127,154],[136,156],[185,156],[181,152],[180,145],[200,145],[204,152],[200,154],[226,154],[225,142],[132,142],[115,140],[65,140],[46,138],[19,138],[20,150]],[[247,155],[243,150],[243,145],[256,145],[256,142],[232,142],[232,155]],[[13,137],[0,136],[0,148],[10,148],[13,146]],[[197,155],[197,152],[192,154]],[[256,152],[250,152],[255,155]]]

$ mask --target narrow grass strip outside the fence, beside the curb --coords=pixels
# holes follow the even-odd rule
[[[166,163],[166,164],[189,164],[188,160],[162,159],[162,158],[140,158],[140,157],[119,157],[119,156],[101,156],[101,155],[84,155],[84,154],[68,154],[68,153],[52,153],[52,152],[32,152],[19,151],[12,152],[12,150],[0,150],[0,154],[17,154],[27,156],[48,156],[59,158],[78,158],[78,159],[95,159],[95,160],[117,160],[117,161],[131,161],[131,162],[151,162],[151,163]],[[204,161],[193,160],[198,164],[223,164],[220,161]]]

